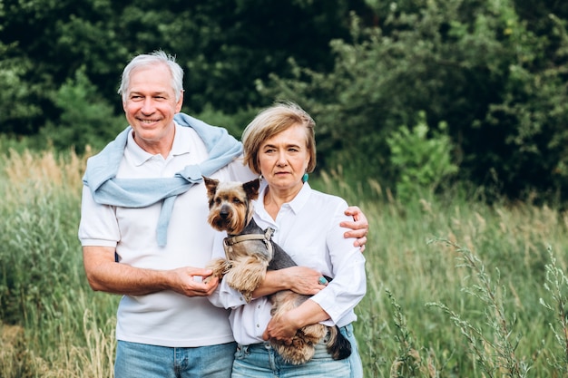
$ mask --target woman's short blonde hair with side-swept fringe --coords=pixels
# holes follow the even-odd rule
[[[259,150],[262,143],[274,135],[300,125],[306,131],[306,146],[308,147],[309,162],[307,172],[316,168],[316,137],[314,127],[316,122],[295,102],[278,102],[259,112],[242,132],[244,148],[244,164],[250,170],[260,174]]]

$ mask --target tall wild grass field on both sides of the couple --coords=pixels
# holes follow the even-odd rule
[[[76,236],[84,163],[0,157],[0,377],[113,375],[119,298],[88,287]],[[369,220],[356,310],[366,377],[568,376],[568,214],[450,195],[398,203],[378,180],[337,172],[310,182]]]

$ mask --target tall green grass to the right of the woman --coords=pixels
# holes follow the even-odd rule
[[[370,222],[356,334],[367,377],[568,376],[566,213],[460,198],[398,203],[377,180],[318,189]],[[372,202],[363,201],[373,197]]]

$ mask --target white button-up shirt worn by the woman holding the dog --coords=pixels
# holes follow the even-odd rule
[[[344,326],[357,320],[353,309],[365,296],[367,277],[365,257],[353,239],[343,237],[347,228],[339,227],[343,220],[353,220],[344,214],[348,204],[344,199],[311,189],[308,182],[295,199],[282,205],[276,220],[264,208],[264,190],[254,201],[254,219],[260,228],[274,228],[273,240],[302,267],[311,267],[333,280],[312,296],[330,319],[324,325]],[[215,245],[215,256],[224,256],[222,240]],[[230,324],[239,344],[262,343],[262,333],[270,320],[267,297],[244,302],[239,292],[224,281],[215,295],[215,305],[232,308]]]

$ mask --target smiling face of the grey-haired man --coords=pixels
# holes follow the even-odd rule
[[[174,136],[173,116],[181,111],[183,93],[176,102],[171,73],[163,64],[137,68],[122,108],[134,130],[134,141],[151,153],[169,152]]]

